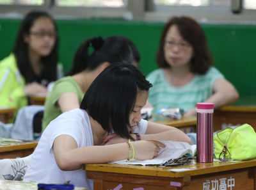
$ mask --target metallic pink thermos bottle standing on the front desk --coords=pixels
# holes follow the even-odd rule
[[[213,162],[212,103],[196,104],[196,162]]]

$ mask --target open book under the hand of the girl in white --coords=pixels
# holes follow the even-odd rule
[[[165,162],[170,161],[170,159],[177,159],[182,157],[182,155],[188,154],[189,157],[194,157],[196,152],[196,145],[189,145],[186,142],[178,141],[160,141],[166,145],[165,148],[161,148],[160,152],[152,159],[148,160],[137,160],[132,159],[131,162],[127,160],[109,162],[111,164],[139,164],[139,165],[156,165],[164,164]]]

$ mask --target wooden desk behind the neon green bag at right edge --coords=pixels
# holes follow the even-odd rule
[[[237,125],[248,123],[256,131],[256,106],[223,106],[213,114],[214,131],[222,129],[223,124]]]

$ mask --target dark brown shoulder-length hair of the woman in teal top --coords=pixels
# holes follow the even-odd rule
[[[157,64],[160,68],[171,67],[164,58],[164,42],[168,30],[173,26],[177,26],[180,35],[193,47],[194,56],[190,61],[190,71],[195,74],[205,74],[213,65],[212,55],[209,50],[204,30],[190,17],[173,17],[164,26],[161,40],[159,43],[159,51],[157,52]]]

